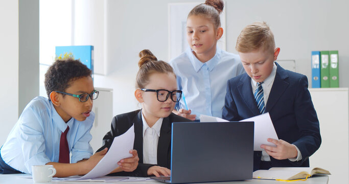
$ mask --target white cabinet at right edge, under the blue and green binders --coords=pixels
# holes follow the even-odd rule
[[[320,122],[322,143],[310,167],[331,172],[329,183],[349,183],[348,88],[309,88]]]

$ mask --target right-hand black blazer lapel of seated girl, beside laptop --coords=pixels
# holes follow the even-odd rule
[[[168,148],[171,144],[171,121],[170,117],[162,120],[160,137],[157,143],[157,165],[167,166]]]

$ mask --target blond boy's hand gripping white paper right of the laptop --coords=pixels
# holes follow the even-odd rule
[[[262,144],[261,148],[263,148],[270,156],[275,159],[281,160],[295,158],[298,155],[296,147],[284,140],[274,140],[269,138],[268,142],[274,143],[276,147]]]

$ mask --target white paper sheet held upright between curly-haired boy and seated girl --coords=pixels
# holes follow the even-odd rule
[[[118,162],[121,159],[132,156],[129,151],[133,149],[133,142],[134,126],[132,125],[124,134],[114,137],[107,154],[90,172],[76,179],[90,179],[109,174],[112,170],[119,167]]]

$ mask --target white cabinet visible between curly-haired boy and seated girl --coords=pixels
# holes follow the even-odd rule
[[[95,88],[99,91],[99,96],[94,100],[92,111],[96,118],[90,131],[92,140],[90,142],[94,152],[102,146],[104,135],[110,131],[110,123],[113,117],[113,91],[107,88]]]

